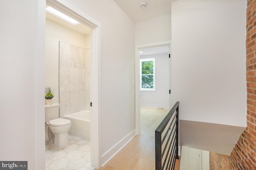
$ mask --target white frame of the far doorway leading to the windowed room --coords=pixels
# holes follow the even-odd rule
[[[171,41],[148,43],[135,46],[135,133],[140,134],[140,49],[168,45],[171,47]],[[170,76],[171,78],[171,76]],[[170,85],[169,85],[170,86]],[[171,87],[170,87],[171,88]],[[170,107],[170,101],[169,101]]]

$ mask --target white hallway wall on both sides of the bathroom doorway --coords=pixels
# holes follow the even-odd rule
[[[69,2],[102,26],[100,149],[104,154],[135,128],[134,23],[113,0]],[[5,21],[0,32],[0,159],[28,160],[29,170],[43,170],[45,1],[1,1],[0,9]]]

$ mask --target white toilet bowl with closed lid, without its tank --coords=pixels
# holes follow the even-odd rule
[[[71,121],[68,119],[54,119],[46,123],[48,125],[48,144],[55,148],[64,148],[68,145],[68,130]]]

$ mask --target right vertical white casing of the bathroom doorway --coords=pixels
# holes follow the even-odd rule
[[[100,89],[100,44],[101,44],[101,26],[98,26],[91,31],[91,77],[94,77],[90,81],[90,93],[91,95],[91,164],[96,168],[100,168],[101,160],[101,89]],[[93,41],[97,40],[97,41]]]

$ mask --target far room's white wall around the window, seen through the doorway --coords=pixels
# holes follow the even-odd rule
[[[140,91],[140,105],[169,109],[169,53],[140,55],[144,58],[155,58],[156,91]]]

